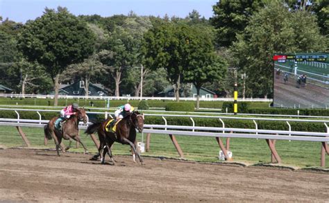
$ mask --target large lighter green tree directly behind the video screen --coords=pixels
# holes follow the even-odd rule
[[[231,51],[235,66],[247,74],[246,87],[251,90],[248,96],[265,98],[273,92],[274,53],[317,52],[327,47],[314,15],[301,10],[289,12],[276,1],[255,14],[237,39]]]

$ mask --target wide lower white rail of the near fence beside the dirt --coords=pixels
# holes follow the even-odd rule
[[[40,122],[42,124],[40,124]],[[0,125],[20,126],[20,127],[44,127],[48,121],[31,119],[7,119],[1,118]],[[82,122],[80,129],[87,129],[87,125]],[[223,133],[229,132],[229,133]],[[143,133],[153,134],[175,134],[188,136],[217,136],[253,139],[280,139],[294,141],[320,141],[328,142],[328,132],[299,132],[287,130],[259,130],[233,127],[200,127],[181,125],[144,125]],[[290,136],[289,136],[290,135]]]

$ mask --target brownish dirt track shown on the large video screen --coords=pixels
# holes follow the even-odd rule
[[[307,83],[297,88],[296,78],[283,82],[283,76],[274,77],[274,105],[276,107],[313,107],[323,108],[329,105],[329,89]]]

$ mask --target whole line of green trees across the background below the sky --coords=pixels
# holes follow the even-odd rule
[[[154,96],[172,85],[176,100],[189,84],[198,95],[206,87],[231,96],[244,80],[244,96],[267,98],[274,53],[328,51],[328,10],[328,1],[221,0],[205,19],[196,10],[101,17],[45,8],[26,24],[1,18],[0,81],[22,94],[53,89],[57,101],[59,84],[74,80],[115,96],[140,96],[141,88]]]

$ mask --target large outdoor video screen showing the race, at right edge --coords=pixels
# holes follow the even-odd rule
[[[329,53],[278,54],[273,61],[273,107],[329,107]]]

